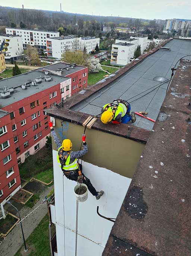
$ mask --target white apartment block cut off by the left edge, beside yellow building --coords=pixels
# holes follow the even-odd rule
[[[19,56],[23,55],[22,37],[0,34],[0,51],[4,53],[6,61],[17,60]]]

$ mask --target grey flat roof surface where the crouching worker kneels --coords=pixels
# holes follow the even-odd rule
[[[168,83],[162,84],[156,90],[153,90],[154,86],[157,87],[160,85],[159,82],[153,81],[153,78],[156,76],[164,76],[166,79],[169,79],[171,76],[171,68],[174,67],[176,61],[187,54],[191,54],[191,41],[186,39],[173,39],[168,42],[165,47],[171,48],[171,51],[158,50],[154,52],[115,81],[73,106],[72,110],[98,115],[104,104],[121,97],[129,101],[131,111],[146,111],[148,112],[148,117],[156,120],[166,96]],[[190,57],[186,58],[190,59]],[[112,76],[113,75],[115,74],[112,74]],[[103,82],[105,79],[106,78],[103,78],[103,80],[98,83]],[[148,91],[144,92],[145,90]],[[145,95],[151,90],[153,91]],[[140,94],[141,92],[142,94]],[[137,94],[140,95],[136,96]],[[139,97],[141,98],[138,99]],[[154,123],[137,116],[137,121],[132,125],[152,130]]]

